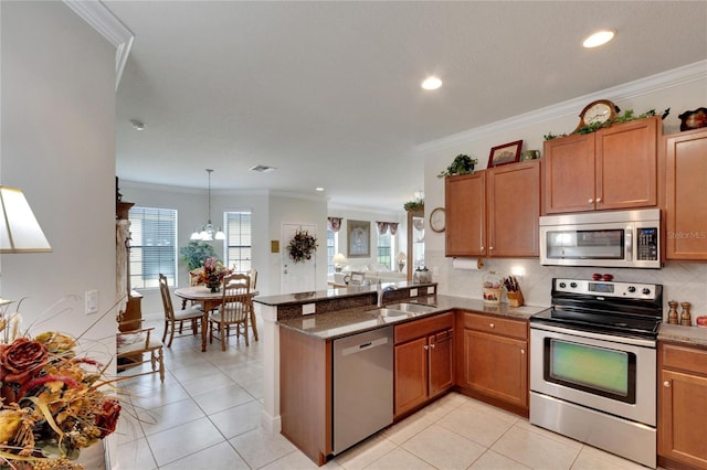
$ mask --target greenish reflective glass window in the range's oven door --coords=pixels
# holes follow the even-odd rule
[[[636,403],[634,353],[546,338],[544,362],[547,382]]]

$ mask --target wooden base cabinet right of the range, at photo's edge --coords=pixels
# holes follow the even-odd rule
[[[707,469],[707,350],[658,341],[658,464]]]

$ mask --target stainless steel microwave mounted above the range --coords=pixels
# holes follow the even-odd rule
[[[540,264],[661,268],[661,210],[540,217]]]

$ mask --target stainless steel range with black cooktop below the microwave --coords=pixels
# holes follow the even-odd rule
[[[530,423],[656,466],[663,286],[552,279],[530,318]]]

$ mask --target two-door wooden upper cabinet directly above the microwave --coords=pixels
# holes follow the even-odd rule
[[[656,206],[659,116],[547,140],[545,212]]]

